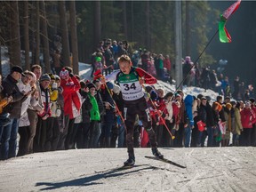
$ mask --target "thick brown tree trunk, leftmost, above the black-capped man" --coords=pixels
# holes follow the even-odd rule
[[[20,59],[20,25],[19,25],[19,7],[18,1],[10,2],[10,18],[11,18],[11,65],[21,66]]]

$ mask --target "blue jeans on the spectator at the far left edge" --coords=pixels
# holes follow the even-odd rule
[[[19,119],[10,119],[11,123],[4,127],[2,135],[2,145],[0,151],[0,158],[2,160],[16,156],[17,135],[19,129]]]

